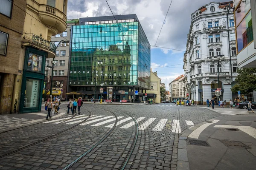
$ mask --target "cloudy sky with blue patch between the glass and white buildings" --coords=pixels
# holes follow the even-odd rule
[[[172,4],[170,6],[170,3]],[[227,2],[218,0],[216,2]],[[151,68],[157,71],[169,90],[169,83],[184,74],[183,54],[186,50],[187,34],[191,14],[210,0],[108,0],[114,15],[137,14],[151,45]],[[168,15],[166,13],[170,6]],[[112,15],[105,0],[68,0],[67,18],[99,17]],[[166,21],[163,25],[164,18]],[[157,40],[160,29],[161,34]],[[157,41],[157,44],[156,44]],[[176,50],[169,50],[172,48]],[[180,50],[180,51],[178,51]]]

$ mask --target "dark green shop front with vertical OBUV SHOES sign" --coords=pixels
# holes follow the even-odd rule
[[[40,112],[47,54],[28,47],[25,53],[20,97],[20,113]]]

